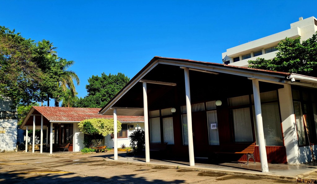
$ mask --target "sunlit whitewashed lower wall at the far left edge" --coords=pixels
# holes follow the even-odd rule
[[[17,119],[0,119],[0,152],[16,150]]]

